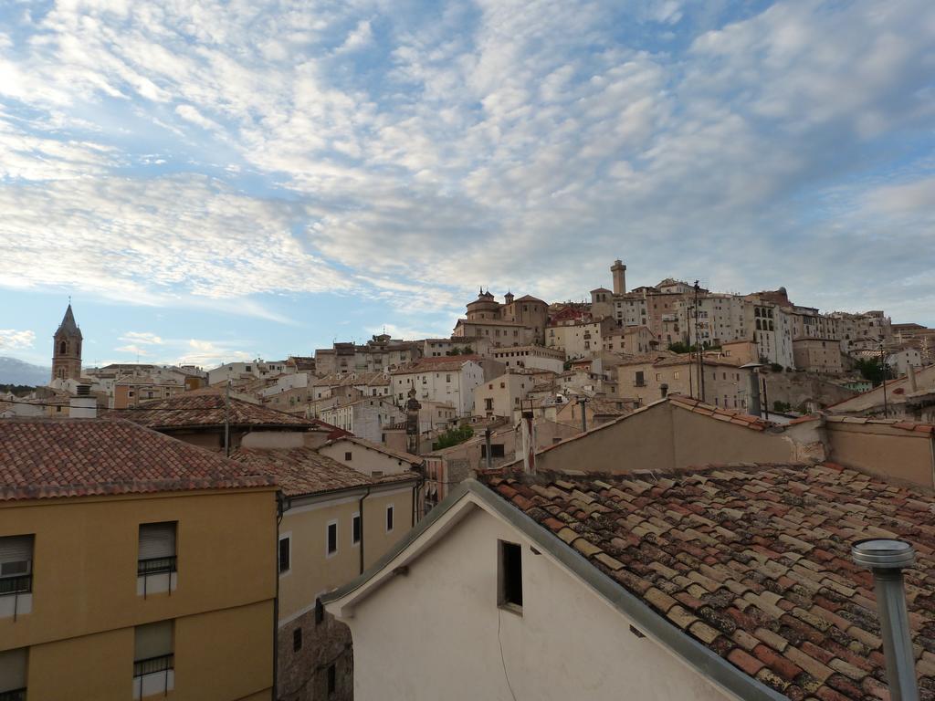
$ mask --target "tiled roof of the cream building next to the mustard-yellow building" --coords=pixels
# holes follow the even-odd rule
[[[274,476],[280,485],[282,494],[286,496],[336,492],[370,484],[419,478],[413,472],[387,475],[381,478],[367,477],[352,467],[342,465],[337,460],[311,448],[275,451],[240,448],[231,454],[231,459],[249,465],[252,470],[263,471]]]

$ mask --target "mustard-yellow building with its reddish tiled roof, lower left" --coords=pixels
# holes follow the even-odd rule
[[[0,420],[0,697],[270,699],[276,487],[122,420]]]

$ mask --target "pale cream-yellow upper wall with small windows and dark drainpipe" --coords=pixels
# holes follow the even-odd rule
[[[352,517],[360,497],[338,496],[327,502],[300,506],[298,500],[282,517],[280,535],[292,538],[290,571],[280,576],[280,621],[289,621],[313,607],[324,592],[360,574],[360,546],[352,545]],[[386,532],[386,507],[394,506],[394,529]],[[338,522],[338,551],[326,557],[327,524]],[[364,501],[364,567],[376,562],[412,523],[412,485],[392,492],[370,494]]]

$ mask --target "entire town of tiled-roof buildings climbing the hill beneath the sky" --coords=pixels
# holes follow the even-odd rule
[[[872,536],[935,698],[935,329],[610,272],[208,369],[86,367],[69,304],[0,396],[0,697],[62,650],[134,698],[885,698]]]

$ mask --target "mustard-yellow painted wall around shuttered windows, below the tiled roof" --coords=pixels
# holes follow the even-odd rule
[[[144,599],[138,527],[163,521],[178,522],[178,585]],[[274,490],[0,506],[0,536],[22,534],[36,537],[32,613],[0,619],[0,650],[30,648],[31,699],[131,697],[134,626],[165,619],[176,620],[174,695],[234,699],[271,686]]]

